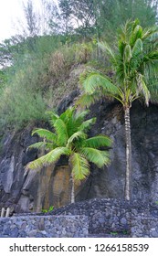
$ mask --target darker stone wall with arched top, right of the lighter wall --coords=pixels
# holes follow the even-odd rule
[[[158,238],[158,205],[155,203],[95,198],[69,204],[47,214],[87,216],[90,237]]]

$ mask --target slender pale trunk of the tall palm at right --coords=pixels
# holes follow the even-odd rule
[[[124,194],[125,199],[131,199],[131,177],[132,177],[132,138],[131,138],[131,124],[130,124],[130,107],[124,110],[125,120],[125,140],[126,140],[126,177]]]

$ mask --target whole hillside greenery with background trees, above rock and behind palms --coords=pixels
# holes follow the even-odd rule
[[[1,130],[45,121],[47,109],[54,110],[77,88],[77,82],[66,84],[71,68],[89,62],[105,72],[109,59],[100,51],[99,40],[106,38],[111,44],[129,17],[138,17],[142,27],[153,26],[157,4],[157,0],[58,0],[57,6],[46,0],[41,1],[44,12],[39,16],[29,0],[24,7],[26,29],[0,44]]]

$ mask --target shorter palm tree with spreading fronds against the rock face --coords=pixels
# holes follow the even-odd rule
[[[44,148],[46,155],[28,163],[26,169],[40,169],[42,166],[56,163],[61,155],[68,157],[68,165],[71,171],[71,203],[75,201],[74,182],[84,180],[90,175],[90,164],[94,163],[99,168],[110,163],[110,155],[107,150],[100,150],[111,146],[111,139],[103,134],[88,138],[87,132],[95,118],[84,121],[88,111],[77,112],[75,108],[68,108],[60,116],[51,112],[50,123],[54,133],[47,129],[35,129],[43,142],[32,144],[29,148]]]

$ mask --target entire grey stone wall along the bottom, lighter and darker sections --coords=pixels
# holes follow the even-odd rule
[[[43,214],[0,219],[0,237],[158,238],[158,206],[102,198]]]

